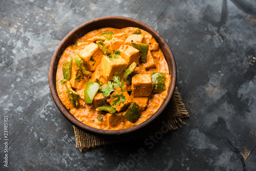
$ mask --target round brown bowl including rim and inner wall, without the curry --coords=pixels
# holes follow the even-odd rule
[[[142,122],[141,124],[125,130],[118,130],[118,131],[99,130],[80,122],[61,103],[56,90],[56,71],[57,71],[59,58],[62,55],[63,51],[68,46],[73,45],[77,38],[82,37],[84,34],[90,31],[104,28],[104,27],[112,27],[117,29],[122,29],[125,27],[138,27],[140,29],[147,31],[148,33],[153,35],[153,37],[158,42],[159,47],[161,48],[163,55],[169,66],[169,74],[171,76],[170,77],[171,82],[168,88],[168,95],[163,101],[159,110],[155,114],[153,114],[150,118],[148,118],[146,121]],[[142,127],[145,127],[146,125],[150,124],[154,119],[156,119],[163,112],[170,98],[174,94],[174,90],[176,86],[176,76],[177,76],[176,63],[175,63],[174,55],[170,50],[170,48],[168,47],[165,40],[163,39],[163,37],[158,32],[156,32],[150,26],[136,19],[122,17],[122,16],[106,16],[106,17],[100,17],[100,18],[90,20],[89,22],[86,22],[78,26],[77,28],[72,30],[65,38],[63,38],[63,40],[60,42],[59,46],[55,50],[51,60],[50,69],[49,69],[49,86],[50,86],[50,91],[51,91],[53,100],[57,105],[57,108],[59,109],[61,114],[65,116],[66,119],[68,119],[73,125],[81,129],[82,131],[91,133],[94,135],[101,135],[101,136],[102,135],[105,135],[105,136],[128,135],[138,130],[141,130]]]

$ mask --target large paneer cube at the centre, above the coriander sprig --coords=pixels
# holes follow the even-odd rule
[[[114,75],[121,76],[126,70],[128,63],[121,56],[109,58],[103,56],[100,63],[100,72],[107,80],[112,80]]]

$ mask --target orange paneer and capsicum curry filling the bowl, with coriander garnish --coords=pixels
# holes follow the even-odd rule
[[[147,120],[170,84],[168,65],[154,37],[139,28],[102,28],[76,40],[59,59],[61,102],[96,129],[122,130]]]

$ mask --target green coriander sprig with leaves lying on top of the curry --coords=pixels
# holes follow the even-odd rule
[[[104,97],[108,97],[112,92],[122,92],[121,94],[115,94],[113,95],[114,98],[117,98],[113,100],[112,105],[120,105],[120,103],[125,102],[125,96],[123,95],[123,92],[126,91],[132,91],[132,90],[123,90],[124,82],[120,80],[119,76],[114,75],[113,82],[108,81],[108,84],[104,84],[102,86],[101,91]],[[121,90],[115,90],[114,88],[120,88]]]

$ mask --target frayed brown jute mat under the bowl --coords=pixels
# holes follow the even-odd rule
[[[104,137],[97,137],[85,133],[79,130],[77,127],[73,126],[76,137],[76,147],[79,148],[82,152],[106,144],[137,140],[148,137],[150,135],[156,135],[166,133],[168,131],[177,130],[178,126],[181,127],[181,123],[184,123],[181,119],[188,116],[189,114],[185,108],[184,103],[181,100],[180,93],[176,87],[174,95],[166,106],[164,112],[157,119],[155,119],[154,122],[147,126],[146,129],[142,129],[141,131],[136,132],[136,134],[133,134],[132,136],[110,139]]]

